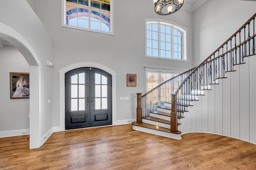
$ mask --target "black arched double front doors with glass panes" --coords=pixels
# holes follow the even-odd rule
[[[112,124],[112,76],[98,68],[65,74],[65,129]]]

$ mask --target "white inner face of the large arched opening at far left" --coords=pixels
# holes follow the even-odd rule
[[[18,49],[30,66],[30,149],[39,148],[41,137],[40,61],[28,41],[16,30],[2,22],[0,22],[0,37]]]

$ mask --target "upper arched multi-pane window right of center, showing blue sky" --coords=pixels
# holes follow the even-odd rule
[[[146,20],[146,57],[186,60],[186,29],[166,20]]]

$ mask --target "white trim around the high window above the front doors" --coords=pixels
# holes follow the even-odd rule
[[[110,32],[99,31],[99,30],[89,29],[89,28],[75,27],[75,26],[72,26],[72,25],[66,25],[65,24],[65,22],[66,22],[66,17],[65,17],[66,5],[65,5],[65,2],[66,2],[66,0],[61,0],[61,26],[62,27],[68,27],[68,28],[80,29],[80,30],[84,30],[84,31],[91,31],[91,32],[96,32],[96,33],[114,35],[114,0],[111,0],[111,3],[110,3],[110,16],[111,16]],[[90,23],[89,23],[89,25],[90,25]]]

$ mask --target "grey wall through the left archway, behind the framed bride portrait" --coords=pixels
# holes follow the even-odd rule
[[[20,51],[7,45],[0,48],[0,132],[29,129],[29,99],[10,99],[10,72],[29,72],[29,65]]]

